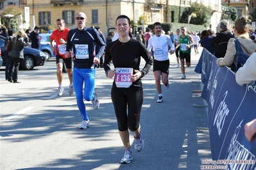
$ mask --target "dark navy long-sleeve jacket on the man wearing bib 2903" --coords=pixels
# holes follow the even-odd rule
[[[95,54],[96,44],[100,47],[97,54]],[[88,45],[88,49],[76,49],[76,45]],[[76,68],[94,68],[94,57],[101,58],[104,50],[105,43],[99,36],[99,32],[94,28],[71,29],[67,35],[66,51],[73,51],[74,67]],[[79,54],[86,54],[88,58],[78,58]]]

